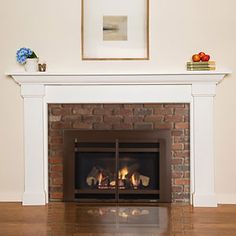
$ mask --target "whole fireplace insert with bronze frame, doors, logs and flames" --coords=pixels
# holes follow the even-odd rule
[[[171,202],[171,133],[64,131],[64,200]]]

